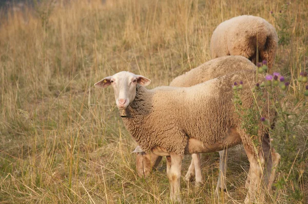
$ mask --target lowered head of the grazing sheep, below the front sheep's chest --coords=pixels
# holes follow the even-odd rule
[[[156,168],[163,158],[162,156],[158,156],[156,154],[145,153],[140,146],[137,146],[132,153],[137,153],[136,170],[138,176],[140,177],[147,177],[150,175],[152,169]]]

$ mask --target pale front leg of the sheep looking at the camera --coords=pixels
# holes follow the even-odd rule
[[[168,159],[167,159],[168,160]],[[170,169],[167,170],[170,183],[170,197],[172,201],[182,202],[181,200],[181,170],[182,170],[182,156],[177,154],[170,154]]]

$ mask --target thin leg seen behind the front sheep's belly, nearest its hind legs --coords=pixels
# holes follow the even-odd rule
[[[219,190],[226,190],[226,170],[227,170],[227,150],[219,151],[219,175],[217,181],[217,187],[215,192],[218,193]]]

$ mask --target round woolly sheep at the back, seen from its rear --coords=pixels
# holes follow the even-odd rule
[[[225,55],[241,55],[253,63],[267,60],[268,70],[274,65],[278,35],[265,19],[241,15],[222,22],[214,30],[210,40],[212,58]]]

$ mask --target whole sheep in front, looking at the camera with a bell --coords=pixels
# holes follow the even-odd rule
[[[264,156],[261,146],[255,147],[251,137],[241,128],[241,119],[233,104],[232,81],[242,80],[246,86],[240,98],[244,108],[254,104],[249,83],[254,70],[226,74],[192,87],[157,87],[148,90],[150,79],[127,71],[116,73],[95,83],[97,88],[112,86],[115,102],[125,110],[123,124],[141,148],[159,156],[167,156],[167,175],[170,197],[181,201],[180,178],[184,154],[220,151],[243,144],[251,168],[251,181],[245,203],[256,199],[259,192]],[[258,82],[261,82],[259,74]],[[261,91],[266,97],[265,91]],[[275,111],[267,109],[261,115],[273,123]],[[259,124],[262,127],[261,122]],[[266,130],[259,128],[259,142],[266,138]],[[264,137],[265,136],[265,137]],[[270,141],[268,140],[268,144]],[[261,144],[261,143],[260,143]]]

